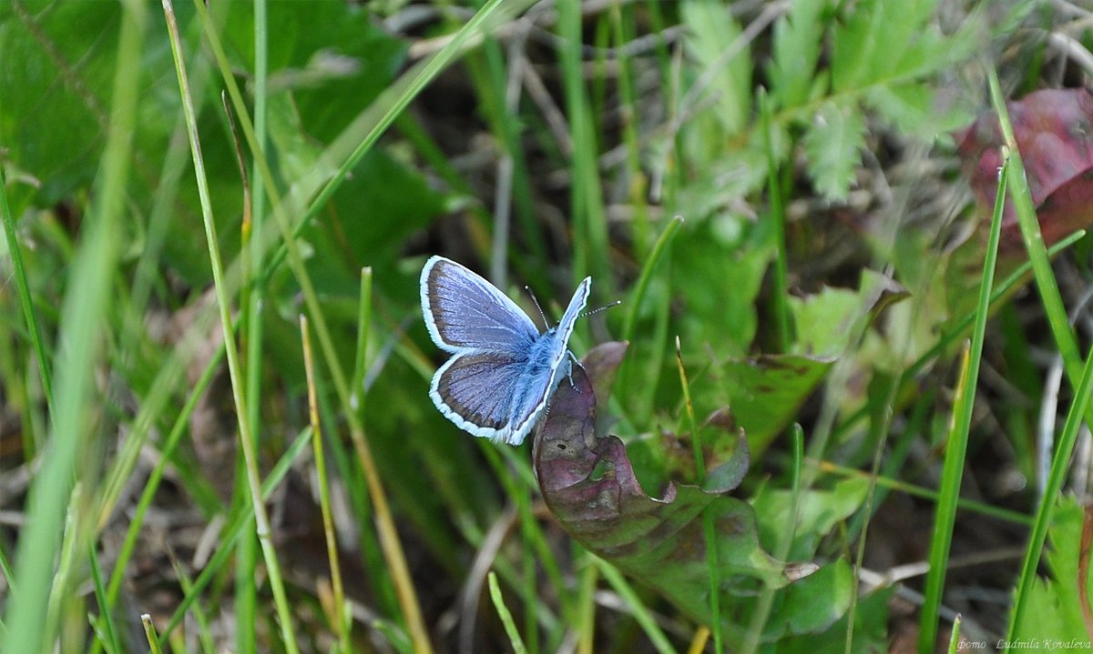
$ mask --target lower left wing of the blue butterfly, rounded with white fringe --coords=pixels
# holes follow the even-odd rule
[[[457,354],[433,376],[428,396],[460,429],[507,441],[513,397],[527,367],[526,357],[504,352]]]

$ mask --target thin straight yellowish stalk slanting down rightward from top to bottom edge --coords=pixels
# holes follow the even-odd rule
[[[235,402],[236,418],[239,425],[239,443],[243,448],[246,464],[250,500],[255,508],[255,533],[258,536],[262,548],[262,558],[266,561],[270,588],[273,592],[273,603],[277,606],[278,617],[280,618],[281,638],[289,654],[296,654],[298,647],[295,634],[292,631],[292,614],[289,610],[289,599],[284,592],[284,582],[281,578],[281,567],[277,558],[277,550],[273,548],[273,543],[270,539],[269,516],[266,513],[266,504],[261,499],[258,456],[255,452],[254,436],[250,431],[250,420],[248,419],[247,404],[244,397],[245,380],[240,369],[239,354],[234,342],[235,329],[232,324],[232,300],[227,296],[227,289],[224,287],[224,269],[220,255],[216,226],[212,216],[212,203],[209,198],[208,180],[205,179],[201,141],[197,128],[197,116],[193,110],[193,100],[190,96],[186,62],[181,56],[181,43],[178,36],[178,25],[175,22],[175,11],[172,0],[163,0],[163,13],[167,22],[167,35],[171,39],[171,51],[175,60],[175,72],[178,76],[179,96],[181,97],[183,109],[186,114],[190,152],[193,155],[193,174],[197,179],[198,197],[201,202],[201,216],[204,222],[209,260],[216,290],[216,304],[220,309],[221,329],[224,336],[224,353],[227,356],[227,369],[232,380],[232,397]]]

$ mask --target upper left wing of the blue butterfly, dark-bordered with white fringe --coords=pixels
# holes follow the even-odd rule
[[[467,267],[433,257],[421,271],[421,309],[440,349],[527,354],[539,330],[504,293]]]

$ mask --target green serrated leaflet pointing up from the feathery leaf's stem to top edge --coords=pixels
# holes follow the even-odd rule
[[[824,34],[821,17],[830,5],[828,0],[794,0],[774,24],[771,93],[783,108],[803,105],[813,91]]]

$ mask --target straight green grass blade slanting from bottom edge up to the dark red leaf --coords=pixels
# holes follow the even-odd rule
[[[945,567],[952,545],[953,525],[956,522],[956,506],[960,502],[961,478],[964,474],[964,457],[967,454],[968,432],[972,429],[972,409],[979,381],[979,362],[983,358],[983,343],[987,333],[987,317],[990,313],[990,292],[995,283],[995,267],[998,261],[998,242],[1002,234],[1002,210],[1006,206],[1006,186],[1011,162],[1002,164],[998,177],[998,197],[990,219],[990,236],[987,239],[986,259],[983,263],[983,281],[979,283],[979,299],[975,311],[975,326],[972,344],[963,360],[961,383],[953,407],[953,425],[945,444],[945,462],[941,471],[941,489],[935,512],[933,535],[930,539],[930,571],[926,575],[924,595],[926,602],[919,621],[918,651],[929,654],[935,650],[938,633],[938,615],[944,592]],[[1045,253],[1046,257],[1046,253]]]

